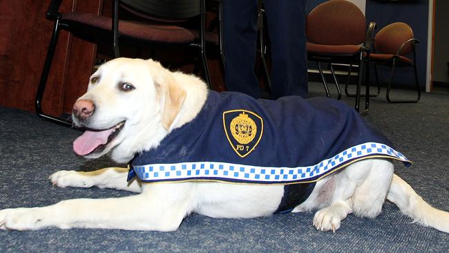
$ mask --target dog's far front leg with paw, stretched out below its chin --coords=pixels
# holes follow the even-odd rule
[[[109,167],[96,171],[57,171],[50,176],[50,181],[57,187],[99,187],[123,189],[140,193],[142,182],[133,179],[126,182],[128,169]]]

